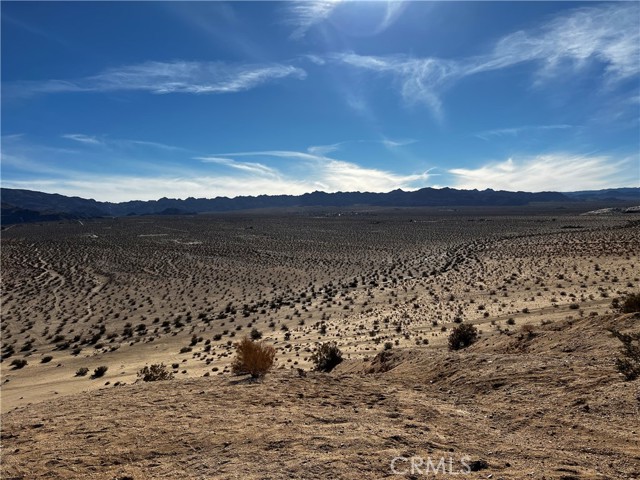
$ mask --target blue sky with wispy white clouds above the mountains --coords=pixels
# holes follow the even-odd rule
[[[640,186],[637,2],[2,2],[2,185]]]

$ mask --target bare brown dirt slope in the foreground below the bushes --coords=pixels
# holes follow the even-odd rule
[[[635,331],[640,318],[516,328],[461,353],[397,350],[328,375],[58,398],[3,415],[2,478],[385,478],[398,456],[483,467],[405,478],[640,478],[640,380],[613,368],[613,325]]]

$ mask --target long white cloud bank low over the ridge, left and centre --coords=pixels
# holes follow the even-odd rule
[[[164,196],[302,194],[315,190],[386,192],[421,188],[430,178],[428,172],[402,174],[293,150],[190,155],[198,162],[185,163],[172,152],[168,152],[168,161],[158,162],[160,155],[156,152],[148,155],[149,151],[141,150],[141,156],[130,155],[122,146],[120,140],[109,140],[103,148],[79,148],[75,153],[94,160],[92,168],[84,171],[77,163],[65,160],[66,151],[33,145],[21,138],[6,139],[5,145],[3,139],[3,173],[8,169],[11,175],[4,175],[2,184],[8,188],[126,201]],[[127,152],[124,161],[123,152]]]

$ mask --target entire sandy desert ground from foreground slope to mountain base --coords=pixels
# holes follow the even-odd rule
[[[640,221],[584,211],[5,226],[2,478],[385,478],[414,456],[640,478],[640,384],[607,331],[640,325],[611,308],[639,289]],[[449,352],[461,321],[480,340]],[[252,331],[277,350],[261,382],[230,374]],[[311,372],[327,341],[345,361]],[[175,379],[138,381],[156,363]]]

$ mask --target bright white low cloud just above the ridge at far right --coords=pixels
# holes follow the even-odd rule
[[[555,153],[490,163],[478,168],[454,168],[453,186],[464,189],[523,190],[528,192],[597,190],[640,186],[635,158],[615,159]]]

